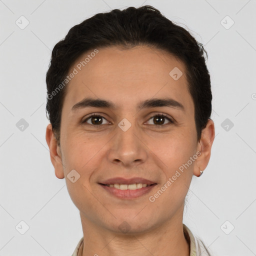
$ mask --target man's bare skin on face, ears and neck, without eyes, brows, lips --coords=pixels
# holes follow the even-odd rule
[[[55,175],[65,178],[69,195],[80,211],[84,239],[79,255],[188,256],[189,245],[182,229],[184,199],[192,176],[198,176],[208,164],[214,123],[208,120],[197,141],[193,101],[179,59],[147,46],[98,50],[67,85],[60,147],[51,124],[46,128]],[[80,56],[70,70],[87,54]],[[169,75],[174,67],[183,72],[176,81]],[[72,112],[72,106],[85,96],[111,100],[116,108],[87,107]],[[167,106],[136,108],[145,99],[166,96],[180,102],[184,111]],[[81,123],[95,112],[104,118],[102,124],[91,124],[93,118]],[[175,122],[164,119],[157,125],[159,121],[152,116],[160,113]],[[131,123],[125,132],[118,126],[123,118]],[[197,159],[150,202],[148,197],[196,151],[201,152]],[[72,169],[80,174],[74,183],[67,178]],[[116,176],[139,176],[157,185],[138,198],[120,199],[98,184]],[[127,233],[118,228],[123,221],[129,225]]]

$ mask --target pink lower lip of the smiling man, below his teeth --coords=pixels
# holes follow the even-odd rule
[[[99,184],[99,185],[103,187],[106,191],[108,191],[109,193],[115,195],[120,199],[134,199],[148,193],[156,184],[141,187],[134,190],[130,190],[130,189],[121,190],[121,189],[117,189],[115,187],[110,187],[107,185],[102,185],[102,184]]]

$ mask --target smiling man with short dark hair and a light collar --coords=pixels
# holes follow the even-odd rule
[[[148,5],[98,13],[54,46],[46,141],[80,211],[73,255],[209,255],[182,223],[214,139],[203,52]]]

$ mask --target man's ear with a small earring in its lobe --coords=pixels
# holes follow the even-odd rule
[[[202,130],[201,138],[197,144],[197,151],[200,151],[201,154],[198,155],[194,164],[193,174],[195,176],[199,176],[200,170],[204,170],[208,165],[214,136],[215,136],[214,122],[209,118],[205,128]]]

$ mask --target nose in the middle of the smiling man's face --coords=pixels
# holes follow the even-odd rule
[[[120,127],[116,125],[115,135],[109,143],[108,159],[126,167],[141,164],[148,156],[148,148],[140,130],[135,124],[131,124],[127,130]]]

